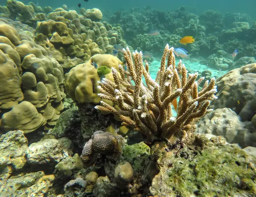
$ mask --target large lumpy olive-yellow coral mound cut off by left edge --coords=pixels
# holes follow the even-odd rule
[[[0,127],[32,132],[63,110],[63,68],[25,32],[0,22]]]

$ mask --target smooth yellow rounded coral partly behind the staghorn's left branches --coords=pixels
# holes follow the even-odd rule
[[[98,96],[98,81],[100,80],[97,69],[92,65],[95,62],[98,68],[105,66],[108,68],[115,68],[118,70],[118,66],[121,61],[109,54],[96,54],[90,58],[90,60],[84,64],[79,64],[72,68],[67,75],[66,90],[68,95],[79,103],[99,103],[101,100]],[[105,75],[106,79],[112,80],[111,73]]]

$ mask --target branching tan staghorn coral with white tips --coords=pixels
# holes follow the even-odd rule
[[[103,79],[99,82],[99,96],[113,101],[118,107],[101,101],[95,108],[115,114],[123,125],[133,126],[149,141],[157,138],[174,143],[195,131],[195,122],[205,113],[217,92],[215,78],[205,82],[198,92],[198,85],[204,80],[195,81],[198,73],[187,75],[185,65],[175,66],[174,48],[167,44],[161,59],[161,66],[153,80],[148,71],[148,63],[143,65],[143,53],[123,49],[127,71],[119,65],[119,72],[112,68],[114,82]],[[166,64],[167,62],[167,64]],[[143,82],[143,76],[145,83]],[[133,81],[133,82],[132,82]],[[179,104],[177,116],[172,115],[172,105]],[[175,106],[176,107],[176,106]]]

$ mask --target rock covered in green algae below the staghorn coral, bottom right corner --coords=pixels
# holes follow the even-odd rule
[[[160,170],[150,192],[159,196],[255,196],[256,158],[222,137],[194,136],[194,141],[158,152]]]

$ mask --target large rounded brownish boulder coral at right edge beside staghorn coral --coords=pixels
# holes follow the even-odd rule
[[[256,126],[256,64],[236,68],[217,79],[219,99],[210,104],[212,109],[228,107],[241,121],[251,121]]]

